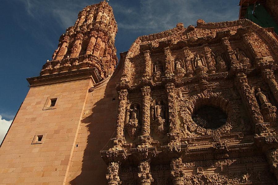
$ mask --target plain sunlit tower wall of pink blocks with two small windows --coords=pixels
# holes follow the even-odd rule
[[[0,148],[1,185],[65,184],[91,86],[82,80],[30,88]],[[58,98],[55,109],[47,108],[49,98]],[[31,144],[35,135],[44,135],[42,144]]]

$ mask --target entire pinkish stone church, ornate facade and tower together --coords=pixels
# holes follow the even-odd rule
[[[276,35],[197,20],[114,46],[103,1],[61,35],[0,148],[0,184],[275,185]]]

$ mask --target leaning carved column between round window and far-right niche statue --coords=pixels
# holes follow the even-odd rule
[[[259,105],[248,84],[246,74],[243,72],[238,72],[236,74],[236,83],[241,97],[244,99],[244,102],[246,102],[246,107],[249,111],[252,121],[255,124],[262,123],[263,116],[260,113]]]

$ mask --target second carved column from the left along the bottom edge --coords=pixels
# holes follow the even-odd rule
[[[141,161],[139,164],[139,185],[151,185],[154,182],[150,173],[150,161]]]

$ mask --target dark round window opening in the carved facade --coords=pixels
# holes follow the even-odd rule
[[[219,108],[203,106],[192,115],[192,120],[200,127],[216,130],[227,121],[227,115]]]

